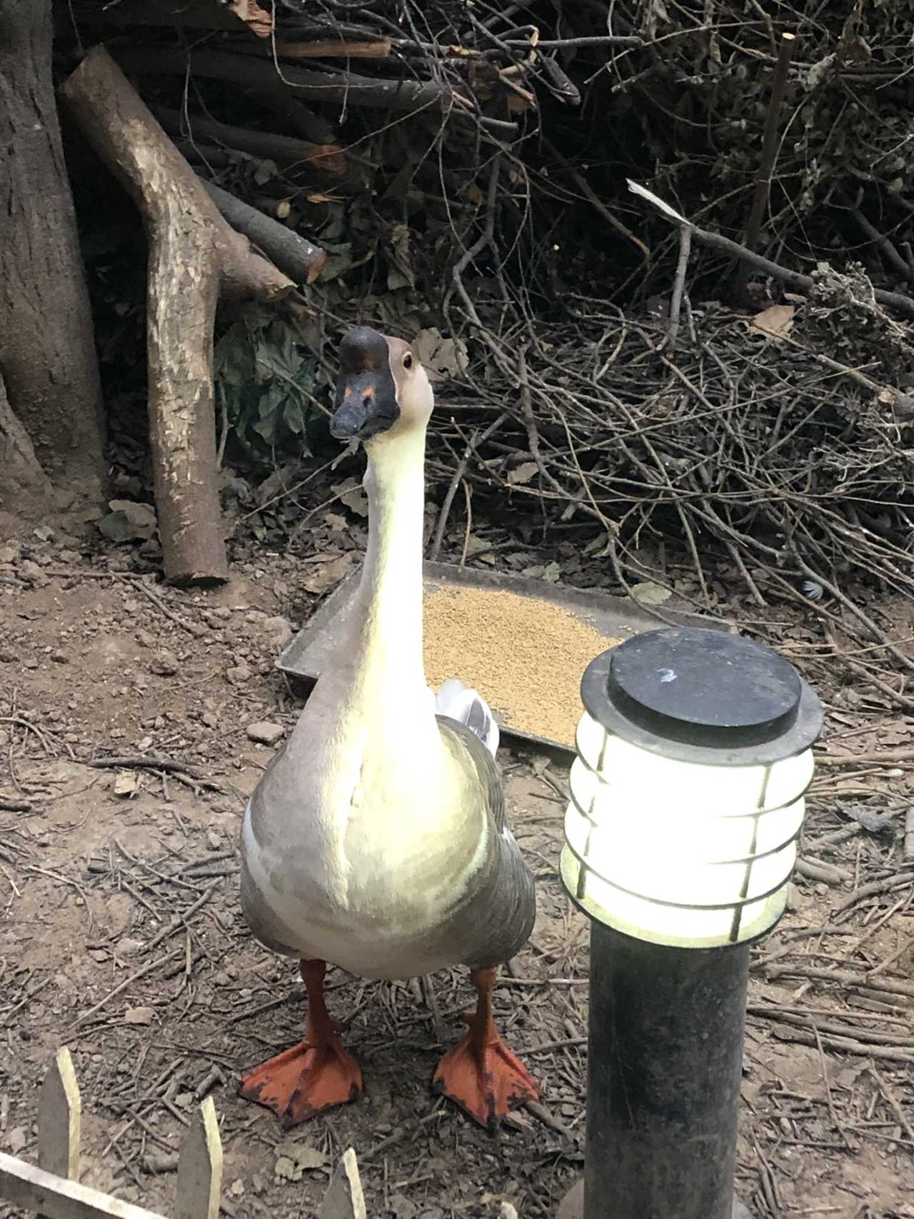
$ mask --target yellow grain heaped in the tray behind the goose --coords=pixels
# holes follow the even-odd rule
[[[496,589],[436,589],[425,596],[425,677],[459,678],[505,723],[574,745],[587,664],[618,644],[551,601]]]

